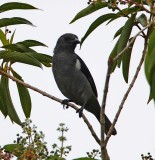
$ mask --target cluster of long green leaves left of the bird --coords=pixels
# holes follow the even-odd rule
[[[37,8],[30,4],[19,2],[10,2],[0,5],[0,13],[17,9],[34,10]],[[15,63],[19,62],[40,68],[42,68],[42,65],[44,65],[45,67],[51,67],[52,57],[43,53],[38,53],[31,48],[35,46],[46,47],[45,44],[37,40],[28,39],[21,42],[13,43],[16,31],[12,33],[8,29],[8,27],[10,25],[19,24],[34,26],[29,20],[22,17],[0,19],[0,42],[2,43],[2,47],[0,49],[0,59],[2,60],[1,69],[3,71],[8,74],[12,74],[14,77],[18,78],[21,81],[24,81],[23,78],[13,69],[13,65]],[[16,85],[23,112],[25,114],[25,117],[28,118],[30,117],[32,107],[29,90],[21,84],[16,83]],[[11,98],[9,79],[5,76],[1,76],[0,79],[0,111],[5,117],[9,116],[12,122],[21,125],[21,120],[16,112]]]

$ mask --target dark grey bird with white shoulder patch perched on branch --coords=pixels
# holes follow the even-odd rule
[[[56,84],[61,93],[67,98],[62,104],[74,102],[81,106],[77,112],[82,116],[83,110],[91,112],[100,122],[101,107],[97,100],[97,89],[94,79],[84,63],[75,53],[75,48],[80,40],[75,34],[66,33],[57,40],[53,51],[52,71]],[[105,134],[108,133],[111,122],[105,115]],[[112,135],[116,135],[114,128]]]

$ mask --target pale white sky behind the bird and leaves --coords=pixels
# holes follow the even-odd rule
[[[11,0],[1,0],[0,4],[11,2]],[[11,31],[16,29],[14,42],[26,39],[35,39],[45,43],[48,48],[37,47],[38,52],[53,55],[57,39],[64,33],[74,33],[79,39],[84,36],[89,25],[100,15],[108,13],[108,10],[100,10],[92,15],[84,17],[73,24],[69,22],[83,8],[87,7],[87,0],[65,0],[65,1],[47,1],[47,0],[20,0],[17,2],[25,2],[34,5],[41,10],[31,11],[9,11],[1,13],[2,17],[21,16],[30,20],[36,27],[31,26],[12,26]],[[116,40],[113,40],[115,32],[124,25],[125,18],[122,18],[110,25],[101,25],[98,27],[84,42],[82,48],[76,48],[76,53],[85,61],[98,90],[98,99],[101,104],[103,97],[103,88],[107,70],[107,59]],[[137,29],[132,33],[135,35]],[[136,71],[136,67],[142,55],[142,38],[138,38],[132,54],[129,83]],[[14,64],[13,68],[18,72],[26,83],[29,83],[47,93],[58,98],[65,97],[58,90],[53,78],[51,68],[39,69],[37,67],[24,64]],[[147,84],[144,67],[140,71],[138,79],[132,89],[127,101],[125,102],[123,111],[116,124],[118,134],[111,137],[108,143],[108,152],[111,160],[138,160],[141,154],[150,152],[155,157],[155,109],[153,102],[147,105],[149,96],[149,86]],[[15,83],[10,81],[10,90],[16,110],[24,121],[18,93],[16,92]],[[121,69],[116,69],[112,74],[106,114],[113,120],[118,106],[122,100],[125,91],[128,88],[123,80]],[[59,123],[63,122],[69,128],[67,132],[66,145],[72,145],[72,151],[67,159],[86,156],[86,152],[92,149],[99,149],[98,144],[93,139],[86,124],[78,117],[75,110],[69,108],[64,110],[58,102],[48,99],[34,91],[30,90],[32,97],[32,113],[31,119],[33,123],[45,134],[49,149],[53,143],[59,143],[57,138],[59,133],[56,131]],[[97,135],[100,137],[100,125],[95,117],[84,111],[89,119]],[[12,143],[16,139],[16,134],[21,133],[21,128],[12,124],[9,118],[4,119],[0,114],[1,136],[0,145]]]

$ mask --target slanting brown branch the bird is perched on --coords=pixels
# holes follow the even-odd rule
[[[15,81],[15,82],[17,82],[17,83],[25,86],[26,88],[29,88],[29,89],[31,89],[31,90],[33,90],[33,91],[35,91],[35,92],[38,92],[38,93],[42,94],[42,95],[45,96],[45,97],[48,97],[48,98],[50,98],[50,99],[52,99],[52,100],[54,100],[54,101],[57,101],[57,102],[59,102],[59,103],[62,103],[62,100],[61,100],[61,99],[59,99],[59,98],[57,98],[57,97],[55,97],[55,96],[52,96],[52,95],[50,95],[50,94],[48,94],[48,93],[46,93],[46,92],[44,92],[44,91],[42,91],[42,90],[34,87],[34,86],[31,86],[31,85],[28,84],[28,83],[25,83],[25,82],[23,82],[23,81],[15,78],[15,77],[11,76],[10,74],[4,72],[2,69],[0,69],[0,74],[2,74],[2,75],[4,75],[4,76],[12,79],[13,81]],[[78,110],[78,109],[79,109],[76,105],[74,105],[74,104],[72,104],[72,103],[68,103],[68,106],[70,106],[71,108],[73,108],[73,109],[75,109],[75,110]],[[95,133],[92,125],[90,124],[90,122],[88,121],[88,119],[86,118],[86,116],[85,116],[84,114],[82,115],[82,118],[83,118],[84,122],[86,123],[86,125],[87,125],[89,131],[91,132],[92,136],[94,137],[94,139],[96,140],[96,142],[100,145],[100,139],[97,137],[97,135],[96,135],[96,133]]]

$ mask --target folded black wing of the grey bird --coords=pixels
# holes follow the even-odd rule
[[[86,76],[86,78],[88,79],[88,81],[89,81],[89,83],[90,83],[90,85],[91,85],[91,87],[92,87],[92,90],[93,90],[95,96],[97,97],[98,94],[97,94],[97,89],[96,89],[96,86],[95,86],[94,79],[93,79],[93,77],[92,77],[92,75],[91,75],[88,67],[87,67],[86,64],[83,62],[83,60],[82,60],[78,55],[77,55],[77,57],[78,57],[78,60],[79,60],[80,63],[81,63],[81,71],[82,71],[82,73]]]

